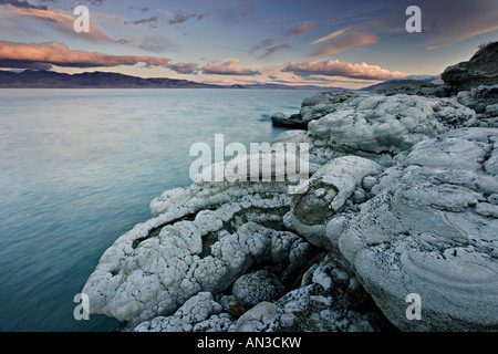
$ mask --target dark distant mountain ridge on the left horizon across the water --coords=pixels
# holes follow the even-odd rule
[[[24,70],[15,73],[0,71],[0,87],[10,88],[221,88],[167,77],[143,79],[118,73],[63,74],[53,71]]]

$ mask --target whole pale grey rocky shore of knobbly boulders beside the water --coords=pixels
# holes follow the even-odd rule
[[[497,51],[434,90],[323,92],[273,115],[294,129],[264,154],[309,146],[299,192],[289,176],[166,190],[102,256],[91,313],[126,331],[498,330]]]

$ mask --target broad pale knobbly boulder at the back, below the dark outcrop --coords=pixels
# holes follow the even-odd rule
[[[308,125],[310,160],[325,163],[356,155],[390,165],[415,144],[459,126],[476,124],[476,114],[449,98],[369,95]]]

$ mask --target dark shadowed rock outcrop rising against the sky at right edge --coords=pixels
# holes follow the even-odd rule
[[[440,77],[459,88],[498,84],[498,42],[480,48],[468,62],[446,67]]]

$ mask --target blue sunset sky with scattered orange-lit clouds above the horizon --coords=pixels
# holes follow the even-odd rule
[[[360,88],[438,75],[497,40],[496,0],[0,0],[0,70],[13,71]]]

